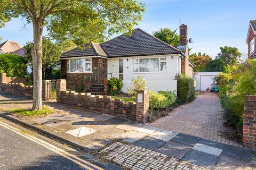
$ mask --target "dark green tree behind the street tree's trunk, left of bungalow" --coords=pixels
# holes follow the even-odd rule
[[[52,71],[57,69],[57,65],[60,61],[61,47],[58,44],[54,44],[49,38],[43,37],[43,55],[42,55],[42,72],[43,79],[52,78]],[[34,47],[33,42],[28,42],[24,46],[25,58],[29,61],[29,66],[33,70],[33,62],[31,56],[31,50]]]

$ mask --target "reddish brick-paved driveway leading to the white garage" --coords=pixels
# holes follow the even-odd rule
[[[241,146],[240,142],[226,137],[226,135],[236,133],[236,131],[224,124],[225,120],[219,96],[211,92],[200,92],[192,103],[178,107],[169,116],[159,118],[154,123],[148,123],[148,125],[157,128]]]

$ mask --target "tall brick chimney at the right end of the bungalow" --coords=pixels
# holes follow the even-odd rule
[[[188,27],[183,23],[180,25],[180,46],[186,46],[186,50],[182,50],[186,57],[181,58],[181,73],[189,75]]]

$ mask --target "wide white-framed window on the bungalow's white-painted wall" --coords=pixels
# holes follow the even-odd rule
[[[166,72],[166,57],[139,58],[132,60],[133,72]]]

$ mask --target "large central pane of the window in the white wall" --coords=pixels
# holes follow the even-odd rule
[[[140,72],[158,72],[158,71],[159,71],[158,58],[140,59]]]

